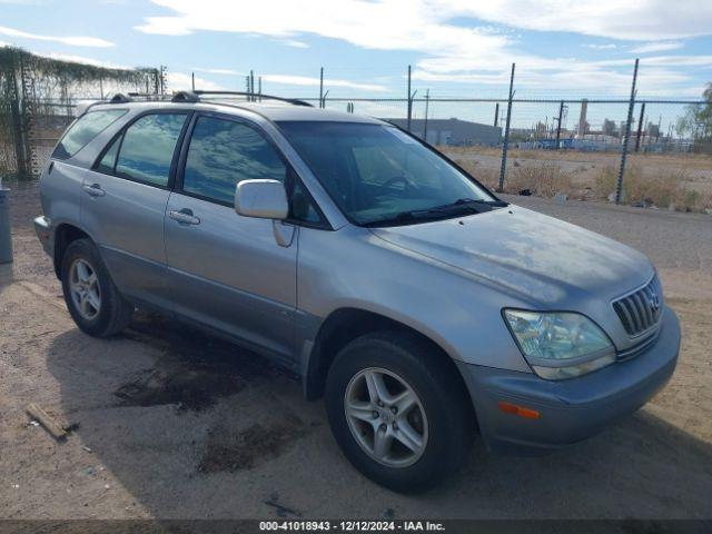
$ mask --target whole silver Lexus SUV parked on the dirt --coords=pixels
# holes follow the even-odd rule
[[[263,99],[117,96],[69,128],[34,225],[81,330],[145,306],[271,358],[404,492],[477,432],[562,447],[670,378],[680,327],[643,254],[498,199],[389,123]]]

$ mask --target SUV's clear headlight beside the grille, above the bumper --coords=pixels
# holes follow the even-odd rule
[[[542,378],[573,378],[615,362],[609,337],[583,315],[505,309],[504,317],[522,354]]]

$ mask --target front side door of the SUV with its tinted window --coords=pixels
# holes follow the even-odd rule
[[[234,209],[238,181],[285,182],[288,165],[257,126],[235,117],[198,115],[190,129],[166,210],[175,310],[289,360],[297,228]]]

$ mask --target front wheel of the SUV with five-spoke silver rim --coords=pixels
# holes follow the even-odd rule
[[[336,441],[358,471],[396,492],[435,486],[471,451],[469,398],[442,358],[416,336],[382,332],[346,345],[329,368],[326,409]]]

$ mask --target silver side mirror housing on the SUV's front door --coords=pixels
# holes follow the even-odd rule
[[[289,202],[284,184],[277,180],[243,180],[235,188],[235,211],[258,219],[286,219]]]

